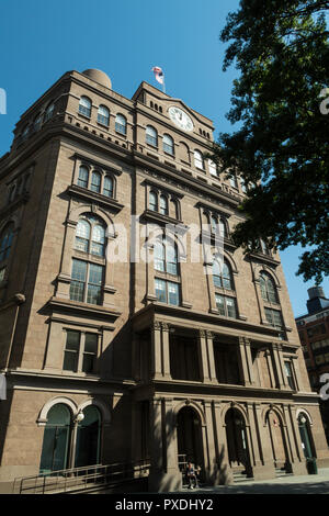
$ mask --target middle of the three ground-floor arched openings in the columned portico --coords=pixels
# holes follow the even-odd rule
[[[246,422],[237,408],[229,408],[225,416],[228,461],[231,468],[250,470]]]

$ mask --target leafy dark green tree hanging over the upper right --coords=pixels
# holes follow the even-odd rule
[[[329,1],[241,0],[229,13],[223,69],[240,71],[227,114],[239,128],[222,133],[212,156],[248,188],[236,244],[246,251],[258,238],[279,249],[309,246],[297,273],[317,283],[329,274],[329,100],[320,98],[329,98],[328,8]]]

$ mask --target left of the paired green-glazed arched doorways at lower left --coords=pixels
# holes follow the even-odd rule
[[[70,444],[71,413],[63,404],[52,406],[47,414],[43,450],[41,457],[41,473],[64,470],[68,467]]]

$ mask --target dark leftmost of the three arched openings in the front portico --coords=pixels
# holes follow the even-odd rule
[[[179,462],[191,461],[204,471],[202,425],[200,416],[190,406],[180,410],[177,416]]]

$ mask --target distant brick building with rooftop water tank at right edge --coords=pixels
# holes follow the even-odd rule
[[[296,317],[296,324],[310,386],[322,393],[320,412],[329,444],[329,300],[321,287],[308,289],[306,305],[307,314]]]

